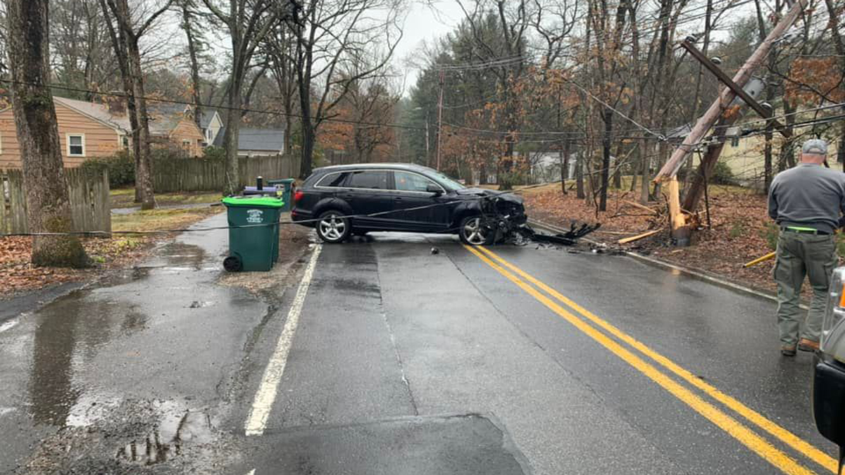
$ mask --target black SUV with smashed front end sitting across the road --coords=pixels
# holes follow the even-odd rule
[[[522,199],[514,194],[466,188],[428,167],[371,163],[314,170],[294,194],[291,217],[315,227],[326,243],[397,231],[452,233],[482,245],[495,239],[482,221],[491,209],[517,225],[526,221]]]

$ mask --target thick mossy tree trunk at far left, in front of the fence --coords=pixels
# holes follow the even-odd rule
[[[50,75],[49,0],[8,0],[8,63],[14,83],[12,110],[24,169],[30,232],[71,232],[74,222],[64,177]],[[37,236],[32,264],[83,267],[88,257],[79,238]]]

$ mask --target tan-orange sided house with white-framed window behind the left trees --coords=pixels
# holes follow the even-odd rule
[[[123,101],[110,105],[53,97],[65,167],[86,159],[112,156],[128,148],[131,128]],[[204,137],[190,107],[149,106],[153,146],[178,147],[188,156],[202,155]],[[20,150],[12,108],[0,111],[0,169],[20,168]]]

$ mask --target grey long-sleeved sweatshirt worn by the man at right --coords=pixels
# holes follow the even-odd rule
[[[845,212],[845,173],[801,163],[771,181],[769,216],[781,227],[833,232],[840,212]]]

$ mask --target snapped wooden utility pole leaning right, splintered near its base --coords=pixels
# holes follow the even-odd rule
[[[777,25],[771,29],[769,35],[766,36],[766,39],[760,43],[760,46],[757,46],[755,52],[748,58],[748,60],[745,61],[742,68],[739,68],[737,74],[733,76],[734,85],[738,86],[740,89],[744,87],[751,78],[751,74],[754,73],[754,70],[759,67],[766,56],[768,56],[772,44],[777,41],[786,32],[786,30],[793,25],[795,19],[798,18],[799,14],[804,9],[804,2],[805,0],[797,0],[793,3],[792,8],[789,8],[787,14],[784,15],[783,18],[777,22]],[[722,119],[727,118],[724,117],[725,113],[728,112],[731,102],[736,98],[736,96],[737,93],[730,86],[725,87],[719,94],[717,100],[711,104],[710,108],[708,108],[704,115],[698,119],[698,122],[695,123],[695,127],[690,131],[690,134],[687,135],[686,139],[684,139],[684,143],[673,152],[672,156],[661,168],[660,172],[657,173],[657,177],[654,178],[656,183],[668,182],[670,226],[672,228],[672,237],[678,240],[679,245],[688,245],[690,243],[690,227],[686,222],[686,216],[684,216],[684,213],[680,208],[677,176],[678,170],[684,163],[684,159],[687,154],[700,144],[701,139],[703,139],[707,132],[713,127],[713,124],[716,123],[720,117]],[[715,163],[717,159],[717,153],[707,154],[706,156],[706,160],[709,160],[712,163]],[[709,163],[702,162],[702,170],[707,170],[709,165]]]

